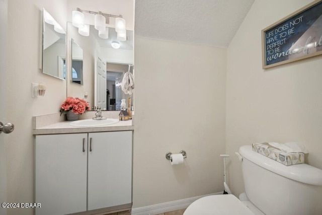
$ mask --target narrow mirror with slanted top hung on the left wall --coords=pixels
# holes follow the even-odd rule
[[[66,32],[43,9],[42,72],[49,76],[66,79]]]

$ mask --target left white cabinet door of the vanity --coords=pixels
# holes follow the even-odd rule
[[[85,211],[86,176],[87,133],[36,136],[37,215]]]

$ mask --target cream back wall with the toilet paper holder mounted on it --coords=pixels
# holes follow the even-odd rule
[[[222,191],[226,49],[134,45],[133,208]],[[166,153],[181,150],[188,158],[171,166]]]

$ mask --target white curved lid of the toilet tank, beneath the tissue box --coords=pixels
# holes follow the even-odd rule
[[[286,178],[299,181],[305,184],[322,186],[322,170],[307,165],[296,164],[286,166],[273,159],[265,157],[254,152],[252,146],[242,146],[239,148],[239,154],[247,160]]]

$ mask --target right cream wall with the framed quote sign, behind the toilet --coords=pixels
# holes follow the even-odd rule
[[[301,141],[308,163],[322,169],[322,56],[262,69],[261,30],[310,0],[254,2],[227,50],[226,153],[230,187],[244,192],[238,148],[263,141]]]

